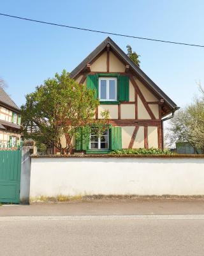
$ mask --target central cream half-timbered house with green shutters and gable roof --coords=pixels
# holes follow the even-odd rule
[[[111,127],[101,138],[83,136],[76,150],[107,153],[120,148],[163,148],[164,116],[177,105],[108,37],[71,73],[78,83],[96,90],[101,111],[108,109]]]

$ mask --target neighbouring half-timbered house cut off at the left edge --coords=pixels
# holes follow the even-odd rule
[[[0,88],[0,148],[20,143],[20,109]]]

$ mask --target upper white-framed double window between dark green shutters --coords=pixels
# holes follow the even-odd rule
[[[117,101],[116,77],[99,77],[99,100]]]

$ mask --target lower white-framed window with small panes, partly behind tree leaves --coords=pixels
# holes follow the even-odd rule
[[[102,136],[97,136],[94,132],[94,129],[92,129],[91,135],[90,135],[90,142],[89,142],[89,148],[90,149],[108,149],[109,147],[109,132],[106,130],[103,132]]]

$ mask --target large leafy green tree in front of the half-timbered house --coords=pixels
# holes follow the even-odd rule
[[[24,138],[66,154],[73,148],[72,138],[79,138],[82,131],[89,134],[93,124],[101,134],[108,123],[108,111],[101,113],[103,119],[94,120],[99,105],[94,95],[94,90],[78,84],[66,70],[48,78],[25,96],[21,107]]]

